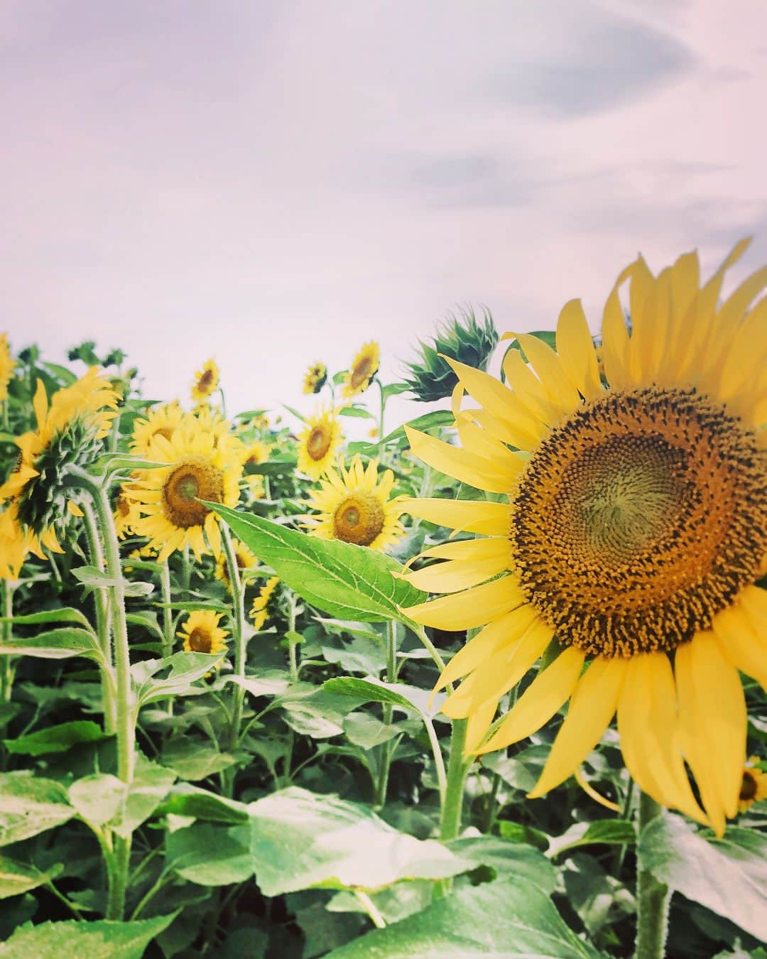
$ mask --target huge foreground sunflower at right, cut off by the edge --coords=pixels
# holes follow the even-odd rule
[[[458,400],[463,449],[408,430],[431,466],[502,500],[407,505],[481,534],[427,551],[447,562],[407,579],[455,595],[407,614],[483,627],[439,682],[462,679],[444,711],[469,719],[469,752],[530,736],[569,700],[532,797],[566,780],[617,713],[623,758],[645,793],[717,834],[737,810],[738,669],[767,684],[767,591],[755,585],[767,571],[767,299],[752,307],[767,269],[718,305],[745,246],[703,287],[696,253],[657,277],[641,258],[623,270],[602,322],[608,386],[572,300],[556,351],[517,336],[531,366],[509,350],[508,386],[452,363],[479,404],[461,411]],[[618,298],[627,279],[631,335]],[[559,655],[491,731],[501,697],[554,638]]]

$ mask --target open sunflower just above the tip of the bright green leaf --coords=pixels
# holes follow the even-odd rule
[[[142,515],[133,522],[133,531],[149,538],[151,548],[159,550],[160,562],[187,545],[199,560],[206,551],[205,537],[218,556],[218,518],[199,501],[237,503],[243,472],[241,444],[233,437],[222,444],[213,433],[181,430],[171,440],[156,435],[150,456],[169,465],[144,470],[136,480],[132,495]]]

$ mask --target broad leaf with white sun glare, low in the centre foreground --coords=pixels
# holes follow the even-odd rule
[[[374,812],[291,786],[248,806],[250,852],[265,896],[322,885],[379,889],[471,868],[435,839],[398,832]]]

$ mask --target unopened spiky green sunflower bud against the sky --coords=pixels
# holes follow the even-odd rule
[[[477,321],[473,310],[461,310],[448,316],[430,343],[420,342],[420,356],[407,363],[405,383],[414,399],[431,403],[452,395],[458,382],[446,358],[486,369],[498,343],[498,331],[488,310]]]

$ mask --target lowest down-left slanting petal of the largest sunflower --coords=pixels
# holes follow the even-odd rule
[[[617,657],[597,658],[578,680],[541,778],[528,793],[530,799],[564,783],[599,742],[616,713],[627,665],[627,660]]]

